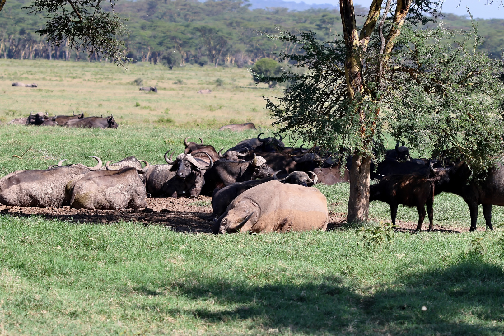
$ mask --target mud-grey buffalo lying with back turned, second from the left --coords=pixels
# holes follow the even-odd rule
[[[78,176],[68,182],[65,194],[74,209],[120,210],[147,205],[144,182],[137,169],[130,167]]]

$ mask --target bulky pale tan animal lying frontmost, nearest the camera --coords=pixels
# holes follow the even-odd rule
[[[326,196],[317,188],[268,181],[238,195],[212,232],[325,231],[327,223]]]

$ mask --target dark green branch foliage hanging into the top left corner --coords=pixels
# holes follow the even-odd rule
[[[45,28],[37,30],[54,46],[68,43],[73,49],[84,48],[98,52],[118,65],[130,61],[123,55],[124,42],[118,37],[128,36],[124,20],[114,11],[114,0],[34,0],[25,7],[29,13],[44,13],[48,21]]]

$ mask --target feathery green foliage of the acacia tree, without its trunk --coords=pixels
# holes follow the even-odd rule
[[[356,99],[347,92],[341,36],[326,43],[312,31],[270,36],[303,50],[281,53],[281,60],[294,65],[284,68],[280,77],[262,79],[291,83],[277,100],[265,97],[276,119],[273,124],[303,142],[344,148],[349,155],[360,149],[374,157],[369,139],[383,143],[384,133],[390,133],[424,155],[445,151],[452,160],[465,158],[473,170],[491,167],[503,151],[502,63],[478,50],[483,41],[474,23],[471,31],[442,25],[413,28],[407,24],[401,28],[388,59],[379,52],[380,38],[371,36],[367,50],[360,51],[364,94]],[[378,75],[381,59],[383,85]],[[303,68],[305,73],[292,68]],[[359,113],[366,123],[364,137]]]

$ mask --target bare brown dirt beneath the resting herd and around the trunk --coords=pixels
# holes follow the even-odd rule
[[[59,219],[76,223],[108,224],[119,221],[133,221],[145,225],[164,225],[177,232],[210,233],[213,225],[212,197],[199,196],[199,198],[146,198],[145,209],[124,210],[76,210],[69,207],[62,208],[24,208],[7,207],[0,205],[1,214],[18,217],[32,215],[42,216],[45,219]],[[346,213],[329,212],[328,230],[335,230],[346,225]],[[372,219],[380,221],[383,219]],[[387,221],[387,220],[385,220]],[[389,219],[390,221],[390,219]],[[416,229],[416,223],[397,221],[399,228],[396,231],[408,232]],[[428,221],[423,224],[423,230],[428,229]],[[467,228],[444,228],[434,225],[434,231],[460,233],[468,231]],[[478,228],[484,230],[484,228]]]

